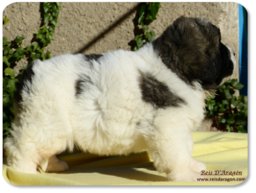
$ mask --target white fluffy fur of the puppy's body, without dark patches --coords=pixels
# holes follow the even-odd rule
[[[157,171],[166,172],[169,180],[201,178],[198,172],[206,167],[191,158],[191,131],[203,119],[200,84],[194,83],[196,89],[185,84],[161,62],[152,44],[137,52],[105,53],[99,63],[94,60],[91,68],[82,54],[36,60],[32,85],[26,83],[30,92],[23,90],[23,110],[12,125],[13,138],[6,140],[8,164],[31,174],[37,166],[46,171],[47,165],[47,171],[64,171],[68,166],[55,154],[72,151],[74,144],[100,155],[147,149]],[[186,104],[155,109],[142,101],[139,70],[168,85]],[[76,80],[84,75],[93,84],[77,98]]]

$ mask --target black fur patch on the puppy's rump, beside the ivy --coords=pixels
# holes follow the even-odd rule
[[[19,79],[19,82],[15,84],[16,92],[14,92],[14,100],[17,102],[17,104],[23,101],[22,95],[21,95],[22,90],[25,87],[29,89],[26,85],[26,82],[29,82],[32,84],[32,78],[35,75],[35,73],[33,72],[33,64],[34,63],[29,64],[27,69],[23,70],[22,77]]]

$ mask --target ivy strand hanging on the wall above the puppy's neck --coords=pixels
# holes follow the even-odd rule
[[[160,2],[140,3],[138,11],[135,16],[135,20],[140,27],[139,34],[136,34],[134,40],[136,45],[132,50],[136,51],[141,48],[146,42],[151,42],[155,39],[154,31],[150,31],[148,25],[156,19],[159,8],[161,8]]]

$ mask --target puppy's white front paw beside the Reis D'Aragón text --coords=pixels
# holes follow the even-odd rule
[[[204,178],[195,171],[188,170],[186,172],[170,172],[167,175],[169,181],[198,181],[198,179]]]

